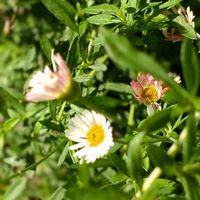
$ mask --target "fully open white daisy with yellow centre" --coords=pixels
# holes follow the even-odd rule
[[[113,146],[112,127],[102,114],[94,111],[83,111],[76,114],[69,122],[66,137],[76,142],[70,150],[77,150],[74,154],[81,162],[93,163],[103,157]]]

